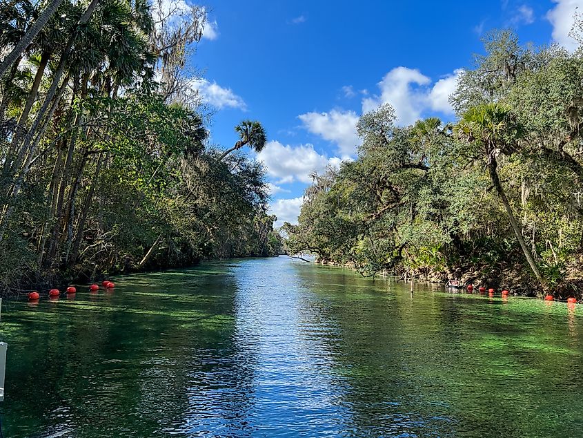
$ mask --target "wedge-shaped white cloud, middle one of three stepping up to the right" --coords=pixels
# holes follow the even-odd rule
[[[342,155],[353,155],[360,144],[356,134],[358,115],[354,111],[305,113],[297,116],[310,133],[337,144]]]

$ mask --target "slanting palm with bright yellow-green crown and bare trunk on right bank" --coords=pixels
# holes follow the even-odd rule
[[[497,171],[497,156],[500,154],[510,155],[516,150],[515,144],[522,136],[522,126],[515,120],[508,106],[495,103],[471,108],[460,120],[458,130],[466,137],[469,143],[482,147],[481,152],[486,158],[486,166],[488,167],[492,184],[498,196],[500,196],[502,204],[504,204],[504,209],[506,209],[514,234],[520,243],[528,265],[530,265],[537,280],[542,282],[542,276],[531,251],[526,247],[522,237],[522,227],[514,216]]]

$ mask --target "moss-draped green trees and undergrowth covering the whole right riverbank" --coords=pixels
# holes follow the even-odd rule
[[[582,42],[575,16],[573,37]],[[363,276],[582,298],[583,50],[484,38],[449,98],[455,122],[398,126],[384,104],[357,123],[357,159],[312,175],[289,254]]]

